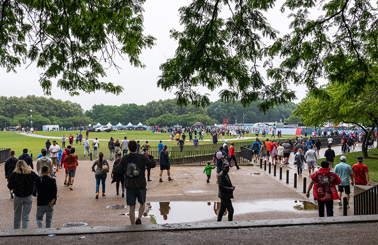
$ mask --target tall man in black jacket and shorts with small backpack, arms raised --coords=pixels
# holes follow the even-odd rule
[[[142,224],[140,220],[146,207],[147,182],[145,169],[156,167],[156,162],[151,154],[136,153],[135,140],[129,141],[130,153],[123,156],[122,160],[115,167],[114,172],[124,172],[126,188],[126,204],[129,206],[129,217],[132,225]],[[148,157],[147,157],[148,156]],[[135,220],[136,199],[140,204],[138,218]]]

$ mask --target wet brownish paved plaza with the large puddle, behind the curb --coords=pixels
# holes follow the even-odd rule
[[[110,174],[108,174],[106,180],[107,196],[100,195],[99,199],[95,199],[95,177],[94,173],[91,172],[91,166],[91,161],[79,162],[73,191],[63,186],[64,171],[60,169],[56,173],[58,197],[57,204],[54,207],[52,227],[62,227],[62,224],[68,222],[85,222],[89,226],[130,224],[129,217],[122,215],[128,213],[128,207],[125,209],[107,208],[108,205],[112,204],[126,205],[125,198],[122,198],[121,195],[115,195],[115,184],[110,185]],[[264,171],[264,169],[258,167],[243,166],[241,170],[232,168],[230,170],[230,178],[233,185],[236,186],[235,198],[233,199],[236,210],[234,220],[317,217],[318,213],[315,205],[314,210],[304,211],[301,209],[302,206],[303,209],[306,209],[301,201],[307,199],[302,194],[300,179],[298,179],[298,187],[293,188],[293,174],[296,169],[294,167],[292,169],[291,166],[284,168],[285,171],[286,169],[290,171],[289,184],[285,183],[286,174],[283,175],[282,180],[279,180],[278,174],[273,177],[273,171],[269,174],[268,170]],[[168,182],[166,172],[164,172],[164,182],[160,183],[158,168],[151,170],[153,181],[148,182],[147,185],[147,201],[151,202],[152,210],[142,218],[143,224],[154,223],[150,215],[154,215],[155,222],[158,223],[184,222],[187,221],[186,219],[191,219],[191,221],[216,221],[214,203],[219,202],[219,198],[217,197],[218,188],[215,171],[212,173],[211,183],[207,184],[203,166],[172,166],[171,175],[174,181]],[[0,165],[0,175],[4,175],[3,164]],[[308,183],[309,181],[307,181]],[[6,179],[0,178],[0,185],[3,186],[0,192],[0,205],[2,207],[0,210],[0,216],[2,217],[0,228],[12,229],[13,200],[9,198]],[[297,203],[295,203],[296,200]],[[313,199],[309,201],[313,202]],[[159,202],[169,202],[167,220],[164,220],[161,210],[159,210],[161,209]],[[188,202],[193,203],[188,204]],[[208,202],[210,202],[210,205],[208,205]],[[184,205],[183,203],[187,204]],[[309,206],[312,205],[309,204]],[[296,206],[297,208],[295,208]],[[342,209],[337,204],[334,205],[334,210],[335,216],[342,215]],[[36,198],[33,198],[33,206],[30,212],[30,228],[36,228],[35,213]],[[352,203],[349,214],[352,214]]]

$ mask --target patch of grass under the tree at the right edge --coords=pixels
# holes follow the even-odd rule
[[[362,156],[362,151],[345,153],[343,155],[347,157],[347,164],[353,166],[353,164],[357,163],[357,156]],[[340,162],[340,156],[342,155],[335,157],[335,163]],[[378,149],[369,149],[369,156],[378,157]],[[320,165],[323,160],[325,158],[318,159],[318,164]],[[378,159],[364,159],[362,163],[368,166],[370,181],[378,182]]]

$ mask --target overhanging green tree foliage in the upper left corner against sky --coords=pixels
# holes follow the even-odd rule
[[[0,66],[7,71],[35,62],[40,84],[51,95],[57,86],[78,95],[103,90],[119,94],[123,88],[105,83],[104,64],[117,67],[116,56],[128,55],[136,67],[142,49],[155,38],[143,31],[145,0],[0,1]]]

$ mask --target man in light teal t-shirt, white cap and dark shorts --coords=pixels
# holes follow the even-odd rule
[[[334,172],[337,174],[337,176],[341,179],[341,184],[338,187],[338,194],[339,194],[339,206],[343,206],[341,202],[341,196],[343,195],[343,192],[345,191],[345,195],[347,196],[347,208],[349,208],[349,199],[351,194],[351,184],[353,183],[353,171],[351,166],[346,164],[347,158],[345,156],[340,157],[340,163],[335,166]],[[349,182],[349,178],[351,178],[351,183]]]

